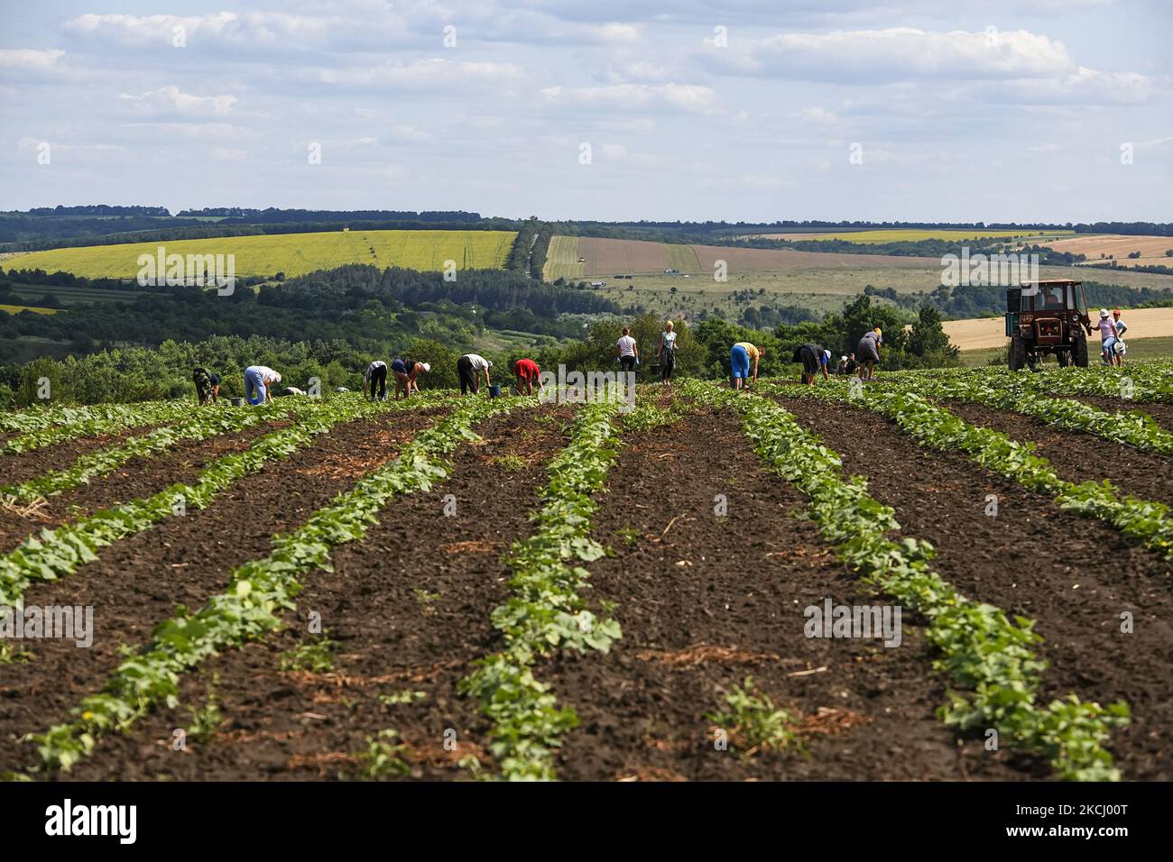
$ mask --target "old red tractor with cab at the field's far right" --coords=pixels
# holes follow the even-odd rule
[[[1032,369],[1047,353],[1060,366],[1087,367],[1092,321],[1082,281],[1024,281],[1006,289],[1006,335],[1010,371]]]

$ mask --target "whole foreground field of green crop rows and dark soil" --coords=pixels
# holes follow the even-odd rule
[[[1171,371],[5,414],[0,773],[1173,779]]]

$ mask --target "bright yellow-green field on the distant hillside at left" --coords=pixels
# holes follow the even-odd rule
[[[136,278],[138,256],[232,254],[237,276],[304,276],[346,264],[438,271],[500,269],[517,237],[511,231],[330,231],[54,249],[8,258],[8,269],[65,271],[86,278]]]

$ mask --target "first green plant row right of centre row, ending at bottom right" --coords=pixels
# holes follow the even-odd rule
[[[866,480],[846,478],[839,456],[779,405],[693,381],[685,391],[737,410],[758,455],[807,496],[839,558],[927,620],[927,638],[938,653],[934,668],[954,686],[938,710],[948,726],[994,728],[1016,749],[1045,756],[1062,779],[1119,779],[1104,745],[1113,727],[1127,722],[1126,704],[1105,708],[1074,695],[1039,704],[1046,663],[1036,656],[1042,638],[1032,620],[1012,623],[1003,610],[974,602],[943,581],[931,568],[933,545],[895,535],[894,510],[868,495]]]

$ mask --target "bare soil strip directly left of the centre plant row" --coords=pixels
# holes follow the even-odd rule
[[[388,727],[400,732],[412,778],[468,778],[466,758],[491,767],[480,745],[488,721],[456,684],[493,649],[490,612],[508,597],[503,555],[530,529],[568,418],[542,408],[477,426],[480,439],[457,448],[445,482],[392,503],[361,542],[332,551],[332,571],[306,582],[285,627],[185,674],[176,707],[134,734],[108,737],[70,776],[353,779],[367,738]],[[445,517],[450,502],[455,513]],[[320,613],[320,636],[307,633],[311,612]],[[323,640],[334,645],[331,668],[283,667]],[[192,705],[209,690],[223,724],[205,740],[189,729],[185,752],[171,751],[172,731],[192,726]]]

